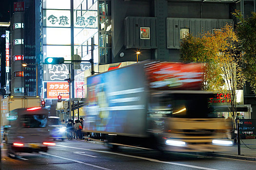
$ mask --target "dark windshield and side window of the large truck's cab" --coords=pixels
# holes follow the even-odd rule
[[[165,94],[151,98],[149,111],[162,114],[162,117],[176,118],[216,118],[217,114],[211,112],[208,99],[209,94]]]

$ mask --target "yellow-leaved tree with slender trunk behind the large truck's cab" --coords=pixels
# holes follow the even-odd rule
[[[203,62],[206,64],[204,89],[230,93],[231,116],[236,128],[237,89],[244,84],[241,69],[242,54],[238,49],[239,41],[232,26],[226,25],[221,31],[205,33],[194,37],[188,35],[181,43],[181,60]]]

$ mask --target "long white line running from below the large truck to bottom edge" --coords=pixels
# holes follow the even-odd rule
[[[216,170],[216,169],[211,169],[211,168],[198,167],[198,166],[194,166],[194,165],[180,164],[180,163],[175,163],[175,162],[159,161],[159,160],[157,160],[157,159],[150,159],[150,158],[146,158],[146,157],[133,156],[133,155],[123,154],[123,153],[112,153],[112,152],[108,152],[108,151],[97,151],[97,150],[92,150],[92,149],[76,148],[76,147],[64,146],[64,145],[56,145],[56,146],[62,146],[62,147],[65,147],[65,148],[73,148],[73,149],[79,149],[79,150],[85,150],[85,151],[92,151],[92,152],[98,152],[98,153],[117,154],[117,155],[120,155],[120,156],[126,156],[126,157],[133,157],[133,158],[138,158],[138,159],[144,159],[144,160],[148,160],[148,161],[151,161],[151,162],[158,162],[158,163],[164,163],[164,164],[179,165],[179,166],[183,166],[183,167],[197,168],[197,169],[200,169],[200,170]]]

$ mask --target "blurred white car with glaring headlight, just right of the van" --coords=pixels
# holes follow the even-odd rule
[[[66,138],[66,127],[64,127],[59,117],[49,116],[48,123],[50,138],[53,140],[61,139],[64,140]]]

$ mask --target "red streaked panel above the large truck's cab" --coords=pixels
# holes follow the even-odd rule
[[[146,65],[150,88],[200,90],[203,64],[152,62]]]

